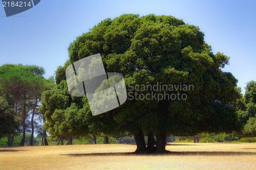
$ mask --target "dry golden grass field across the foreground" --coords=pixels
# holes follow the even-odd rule
[[[256,143],[169,143],[170,154],[134,155],[134,144],[0,148],[0,169],[256,169]]]

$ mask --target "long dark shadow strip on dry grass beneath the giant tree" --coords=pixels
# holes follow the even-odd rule
[[[66,156],[134,156],[134,155],[179,155],[179,156],[234,156],[234,155],[256,155],[255,152],[225,152],[225,151],[182,151],[182,152],[176,152],[176,151],[170,151],[168,153],[135,153],[135,152],[114,152],[114,153],[88,153],[88,154],[62,154]]]

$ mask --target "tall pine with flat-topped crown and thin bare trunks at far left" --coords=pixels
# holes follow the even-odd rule
[[[39,102],[38,96],[42,91],[42,81],[44,79],[42,75],[44,73],[45,70],[42,67],[34,65],[5,64],[0,67],[0,80],[6,94],[5,98],[11,101],[15,116],[21,119],[23,138],[20,145],[25,143],[26,119],[30,111],[32,111],[33,120],[35,109]],[[31,122],[33,132],[33,121]]]

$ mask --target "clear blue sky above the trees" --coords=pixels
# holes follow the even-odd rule
[[[41,0],[34,8],[6,17],[0,6],[0,65],[34,64],[54,75],[68,60],[68,46],[105,18],[125,13],[172,15],[199,26],[214,53],[230,57],[224,68],[238,86],[256,81],[255,1],[63,1]]]

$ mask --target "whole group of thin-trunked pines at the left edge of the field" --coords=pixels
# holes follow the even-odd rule
[[[8,136],[8,146],[13,145],[18,134],[22,134],[20,145],[24,145],[27,132],[31,133],[33,145],[35,127],[46,137],[46,130],[34,121],[35,115],[44,119],[38,111],[41,93],[53,85],[53,78],[46,80],[44,74],[44,68],[35,65],[0,67],[0,137]]]

